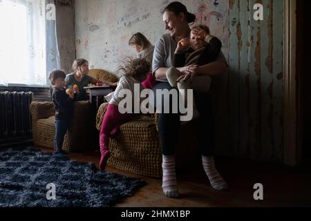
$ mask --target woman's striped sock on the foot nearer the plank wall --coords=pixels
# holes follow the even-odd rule
[[[218,173],[214,164],[214,157],[202,156],[202,164],[211,186],[218,191],[224,191],[229,189],[223,177]]]

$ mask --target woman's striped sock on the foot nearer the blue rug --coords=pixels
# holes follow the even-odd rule
[[[176,171],[175,171],[175,156],[165,156],[162,155],[162,189],[164,195],[168,198],[178,198],[178,186],[176,181]]]

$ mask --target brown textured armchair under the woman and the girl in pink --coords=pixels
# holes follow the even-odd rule
[[[102,119],[108,103],[100,106],[96,116],[96,128],[100,131]],[[151,177],[162,176],[162,151],[158,138],[158,114],[153,117],[135,115],[126,124],[120,126],[120,133],[111,137],[109,148],[111,157],[107,164],[123,171]],[[195,141],[191,135],[191,124],[185,124],[180,131],[176,149],[176,167],[183,169],[185,165],[194,162],[197,152],[194,150]]]

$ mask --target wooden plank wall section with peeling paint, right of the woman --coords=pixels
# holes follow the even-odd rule
[[[283,1],[229,0],[229,73],[212,92],[218,153],[282,163]]]

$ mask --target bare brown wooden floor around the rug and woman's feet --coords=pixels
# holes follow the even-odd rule
[[[42,149],[51,152],[52,150]],[[99,168],[100,153],[74,153],[70,159],[79,162],[93,162]],[[216,166],[229,184],[229,191],[211,188],[205,172],[198,164],[177,172],[181,198],[164,197],[161,180],[127,173],[107,166],[106,171],[138,177],[148,184],[115,206],[311,206],[311,169],[292,169],[272,164],[258,164],[247,160],[216,157]],[[263,200],[253,198],[253,186],[263,184]]]

